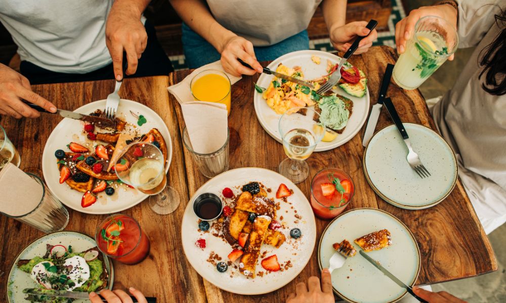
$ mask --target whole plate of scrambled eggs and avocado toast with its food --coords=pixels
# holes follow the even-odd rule
[[[255,85],[257,118],[267,133],[281,142],[278,121],[295,107],[311,107],[326,127],[315,151],[329,150],[351,140],[362,128],[369,113],[369,90],[365,73],[348,62],[341,69],[342,79],[323,95],[316,93],[333,72],[340,57],[321,51],[298,51],[274,60],[268,68],[310,82],[314,89],[272,75],[262,74]],[[304,111],[292,113],[305,115]]]

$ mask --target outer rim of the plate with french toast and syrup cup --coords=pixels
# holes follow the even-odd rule
[[[220,175],[222,175],[222,174],[226,174],[226,173],[228,173],[228,172],[232,172],[232,171],[248,170],[248,169],[265,170],[265,171],[268,171],[268,172],[270,172],[270,173],[275,173],[275,174],[277,174],[279,177],[284,178],[284,179],[285,179],[285,182],[286,182],[286,181],[288,181],[289,183],[293,184],[293,182],[291,182],[291,181],[290,181],[289,179],[287,179],[285,176],[283,176],[283,175],[281,175],[281,174],[279,174],[279,173],[277,173],[277,172],[275,172],[275,171],[273,171],[273,170],[270,170],[270,169],[267,169],[267,168],[262,168],[262,167],[240,167],[240,168],[235,168],[235,169],[231,169],[231,170],[225,171],[225,172],[223,172],[223,173],[221,173],[221,174],[219,174],[219,175],[217,175],[217,176],[215,176],[215,177],[213,177],[213,178],[211,178],[211,179],[207,180],[205,183],[203,183],[202,185],[200,185],[200,187],[199,187],[197,190],[195,190],[195,192],[193,193],[193,195],[192,195],[192,196],[190,197],[190,199],[188,200],[188,204],[186,205],[185,212],[184,212],[184,214],[183,214],[183,218],[181,219],[181,222],[183,222],[183,219],[184,219],[184,217],[185,217],[185,214],[186,214],[187,209],[192,207],[192,205],[191,205],[191,201],[193,201],[193,199],[195,199],[195,197],[196,197],[197,193],[199,193],[199,191],[200,191],[200,189],[201,189],[202,187],[204,187],[204,186],[205,186],[205,185],[207,185],[209,182],[213,181],[213,179],[214,179],[214,178],[216,178],[216,177],[218,177],[218,176],[220,176]],[[288,185],[288,184],[287,184],[287,185]],[[306,201],[307,201],[307,202],[308,202],[308,204],[309,204],[309,200],[308,200],[308,198],[306,197],[306,195],[304,194],[304,192],[303,192],[303,191],[302,191],[302,190],[301,190],[301,189],[297,186],[297,184],[293,184],[293,185],[294,185],[294,186],[292,186],[292,187],[290,187],[290,188],[296,188],[296,189],[294,189],[294,191],[297,191],[297,190],[298,190],[298,191],[300,191],[300,193],[301,193],[301,194],[302,194],[302,195],[306,198]],[[304,202],[304,201],[303,201],[303,202]],[[313,213],[312,213],[312,212],[311,212],[311,215],[313,215]],[[317,230],[316,230],[316,219],[315,219],[314,215],[313,215],[313,216],[309,216],[309,217],[310,217],[310,218],[312,218],[312,219],[310,219],[310,221],[311,221],[311,222],[310,222],[311,226],[312,226],[312,227],[314,227],[315,231],[317,231]],[[317,234],[317,232],[315,232],[315,235],[316,235],[316,234]],[[181,237],[184,237],[184,234],[183,234],[183,224],[181,224]],[[197,272],[197,274],[199,274],[199,276],[200,276],[200,277],[202,277],[202,279],[206,280],[207,282],[209,282],[209,283],[213,284],[214,286],[216,286],[216,287],[218,287],[218,288],[220,288],[220,289],[222,289],[222,290],[225,290],[225,291],[228,291],[228,292],[231,292],[231,293],[235,293],[235,294],[240,294],[240,295],[259,295],[259,294],[266,294],[266,293],[273,292],[273,291],[275,291],[275,290],[278,290],[278,289],[280,289],[280,288],[282,288],[282,287],[286,286],[288,283],[290,283],[291,281],[293,281],[293,279],[297,278],[297,277],[299,276],[299,274],[300,274],[300,273],[301,273],[301,272],[302,272],[302,271],[306,268],[306,266],[308,265],[309,261],[311,261],[311,256],[312,256],[312,254],[311,254],[311,255],[310,255],[310,257],[308,258],[308,260],[306,261],[306,264],[305,264],[303,267],[301,267],[301,270],[300,270],[299,272],[297,272],[297,274],[296,274],[296,275],[294,275],[294,276],[293,276],[293,278],[292,278],[291,280],[286,281],[286,283],[284,283],[283,285],[279,286],[278,288],[275,288],[275,289],[270,289],[270,290],[267,290],[267,291],[260,291],[260,292],[250,292],[250,293],[246,293],[246,292],[236,292],[236,291],[232,291],[232,290],[230,290],[230,289],[222,288],[222,287],[220,287],[220,286],[216,285],[216,284],[214,283],[214,281],[209,281],[209,280],[205,279],[205,278],[204,278],[204,276],[202,276],[200,269],[197,269],[198,267],[193,266],[192,262],[190,261],[190,258],[188,258],[188,255],[187,255],[186,250],[185,250],[185,245],[182,245],[182,246],[183,246],[183,252],[184,252],[184,254],[185,254],[186,260],[188,260],[188,263],[190,263],[191,267],[192,267],[192,268],[193,268],[193,269]],[[312,245],[310,245],[310,246],[312,246],[312,247],[313,247],[313,251],[314,251],[314,250],[315,250],[315,246],[316,246],[316,236],[315,236],[315,237],[314,237],[314,239],[313,239],[313,244],[312,244]]]

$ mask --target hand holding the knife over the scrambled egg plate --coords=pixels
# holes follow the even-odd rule
[[[254,75],[256,72],[262,72],[262,66],[255,57],[253,43],[243,37],[234,35],[227,39],[223,43],[221,55],[223,69],[234,76]],[[237,58],[240,58],[254,69],[243,66],[237,61]]]

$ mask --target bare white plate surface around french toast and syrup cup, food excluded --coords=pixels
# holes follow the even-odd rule
[[[268,193],[268,197],[273,197],[276,203],[280,203],[281,207],[276,211],[276,216],[278,217],[276,220],[281,223],[285,222],[287,225],[286,229],[279,229],[279,231],[284,233],[286,241],[279,248],[274,248],[267,244],[262,245],[260,256],[262,256],[264,251],[267,251],[264,258],[276,255],[281,265],[286,264],[287,261],[290,261],[293,265],[288,270],[270,272],[261,277],[258,275],[258,272],[266,272],[266,270],[260,264],[262,258],[259,258],[257,276],[254,279],[246,278],[239,272],[239,269],[235,269],[233,266],[229,266],[226,272],[220,273],[216,269],[216,266],[206,262],[211,251],[218,254],[222,258],[222,261],[227,262],[227,256],[232,251],[232,246],[225,240],[215,237],[208,232],[199,232],[198,218],[193,213],[193,200],[199,194],[212,192],[223,198],[221,193],[223,188],[230,187],[235,194],[239,194],[240,189],[235,188],[235,186],[242,186],[251,181],[261,182],[266,188],[272,189],[272,192]],[[286,184],[289,189],[293,190],[293,194],[287,197],[287,201],[291,205],[283,202],[281,199],[275,198],[280,183]],[[290,207],[293,208],[291,209]],[[296,215],[294,213],[295,210],[302,217],[300,220],[294,217]],[[280,220],[281,216],[283,216],[283,220]],[[295,221],[298,221],[298,223],[294,223]],[[209,223],[212,224],[212,222]],[[298,240],[290,237],[290,229],[294,227],[302,231],[302,237]],[[306,196],[290,180],[276,172],[263,168],[239,168],[224,172],[210,179],[195,192],[186,207],[181,224],[181,234],[186,258],[204,279],[229,292],[237,294],[262,294],[283,287],[297,277],[304,267],[306,267],[313,254],[316,242],[316,222]],[[206,241],[204,249],[200,249],[195,245],[195,241],[200,238]],[[239,261],[236,261],[234,264],[238,265]]]

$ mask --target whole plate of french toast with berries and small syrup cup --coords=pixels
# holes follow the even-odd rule
[[[205,195],[220,201],[219,215],[208,220],[195,211]],[[313,254],[316,222],[306,196],[290,180],[263,168],[239,168],[194,193],[181,233],[186,258],[204,279],[253,295],[279,289],[299,275]]]

